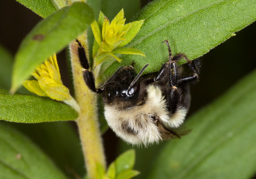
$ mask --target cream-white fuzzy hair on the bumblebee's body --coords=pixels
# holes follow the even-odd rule
[[[181,108],[172,116],[166,107],[166,100],[158,86],[150,85],[148,96],[143,105],[136,105],[128,109],[116,109],[115,104],[106,104],[104,115],[110,128],[124,141],[133,145],[147,146],[162,140],[158,127],[150,116],[156,116],[167,127],[178,127],[183,123],[186,109]],[[134,133],[124,130],[128,126]]]

